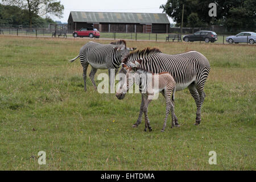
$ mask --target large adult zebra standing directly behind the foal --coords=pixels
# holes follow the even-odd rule
[[[189,89],[197,106],[195,125],[199,125],[201,122],[201,106],[205,98],[204,84],[210,71],[207,58],[197,51],[167,55],[158,48],[146,48],[130,53],[123,60],[123,63],[130,66],[135,60],[140,60],[139,67],[152,73],[170,73],[176,82],[176,91]],[[126,74],[126,69],[122,68],[119,73]],[[172,97],[174,99],[174,95]],[[119,96],[119,99],[122,98],[123,96]],[[134,125],[138,126],[140,123],[141,118],[138,118]],[[178,125],[176,115],[175,123]]]

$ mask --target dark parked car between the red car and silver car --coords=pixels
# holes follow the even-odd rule
[[[183,40],[185,42],[204,41],[206,43],[215,42],[218,40],[217,34],[213,31],[197,31],[192,35],[184,35]]]

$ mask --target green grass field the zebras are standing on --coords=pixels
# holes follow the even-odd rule
[[[162,96],[148,110],[153,131],[137,129],[140,94],[84,92],[77,56],[88,39],[0,36],[1,170],[255,170],[256,47],[127,42],[175,54],[203,53],[211,70],[202,122],[187,89],[175,95],[180,127],[164,133]],[[106,40],[96,40],[109,43]],[[90,71],[90,67],[88,72]],[[102,73],[107,71],[98,71]],[[96,75],[97,78],[97,75]],[[97,84],[100,81],[97,81]],[[46,165],[38,152],[46,151]],[[209,165],[216,151],[217,165]]]

